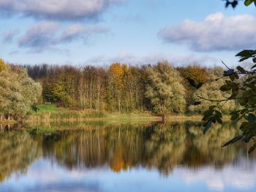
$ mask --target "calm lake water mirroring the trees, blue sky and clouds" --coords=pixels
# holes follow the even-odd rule
[[[229,124],[206,135],[197,123],[7,129],[1,192],[256,191],[256,153],[242,143],[220,147],[238,134]]]

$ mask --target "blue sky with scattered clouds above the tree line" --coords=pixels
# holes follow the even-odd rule
[[[0,0],[0,58],[12,64],[236,66],[255,48],[256,8],[221,0]]]

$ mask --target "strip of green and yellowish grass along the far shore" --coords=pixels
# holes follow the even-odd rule
[[[202,115],[167,115],[167,121],[200,121]],[[229,120],[229,116],[225,115],[224,120]],[[151,112],[105,112],[96,110],[69,110],[62,107],[56,107],[54,104],[39,105],[39,112],[32,112],[32,114],[25,121],[32,122],[64,122],[64,121],[91,121],[91,120],[110,120],[110,121],[129,121],[129,120],[162,120],[161,117],[152,114]],[[14,120],[0,122],[0,124],[15,123]]]

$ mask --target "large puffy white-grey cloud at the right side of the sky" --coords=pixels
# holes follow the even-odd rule
[[[255,47],[255,31],[256,18],[252,15],[227,17],[217,12],[201,22],[184,20],[165,27],[158,35],[165,42],[187,45],[195,51],[242,50]]]

